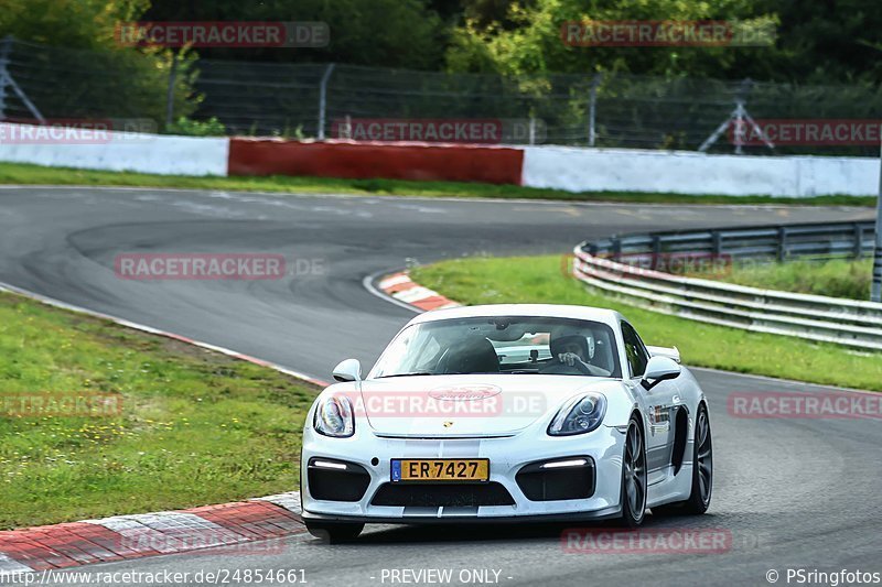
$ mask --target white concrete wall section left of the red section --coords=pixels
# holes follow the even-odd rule
[[[51,138],[46,132],[46,127],[0,123],[0,161],[161,175],[227,175],[227,138],[132,132]]]

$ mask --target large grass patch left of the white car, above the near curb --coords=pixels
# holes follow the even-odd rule
[[[0,529],[298,488],[301,430],[316,389],[0,294],[0,400],[80,392],[118,392],[122,410],[0,413]]]

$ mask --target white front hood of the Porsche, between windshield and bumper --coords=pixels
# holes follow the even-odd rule
[[[507,436],[550,422],[569,398],[615,380],[552,374],[454,374],[365,380],[361,405],[380,435]]]

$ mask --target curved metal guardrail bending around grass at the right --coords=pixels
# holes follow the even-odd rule
[[[837,222],[613,237],[577,246],[572,271],[589,285],[664,314],[882,350],[882,304],[745,287],[657,270],[665,254],[783,261],[859,258],[872,253],[873,226]]]

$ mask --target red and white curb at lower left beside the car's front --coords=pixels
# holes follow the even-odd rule
[[[235,548],[237,554],[262,554],[267,552],[266,541],[306,532],[300,511],[300,493],[294,491],[182,511],[0,532],[0,573],[67,568],[204,548],[212,548],[212,553],[232,553]]]

